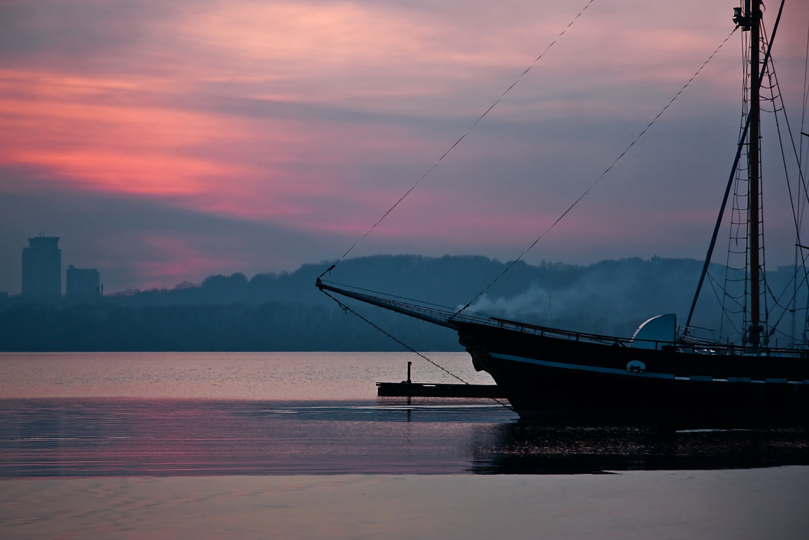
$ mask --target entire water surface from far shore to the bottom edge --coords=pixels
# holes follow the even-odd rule
[[[463,354],[430,355],[487,384]],[[804,538],[803,430],[542,426],[397,353],[0,355],[3,538]]]

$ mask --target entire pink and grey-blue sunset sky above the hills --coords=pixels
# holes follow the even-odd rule
[[[0,0],[0,291],[27,239],[105,291],[349,257],[517,257],[731,33],[733,0]],[[776,2],[765,17],[771,24]],[[773,57],[800,127],[809,3]],[[527,256],[704,256],[739,32]],[[806,129],[804,129],[806,131]],[[781,199],[769,232],[786,238]],[[792,241],[768,245],[776,264]]]

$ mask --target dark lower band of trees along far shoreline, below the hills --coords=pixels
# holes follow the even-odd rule
[[[458,349],[447,329],[392,321],[380,325],[425,351]],[[415,324],[414,324],[415,323]],[[2,351],[389,351],[403,350],[358,317],[303,304],[18,304],[0,314]]]

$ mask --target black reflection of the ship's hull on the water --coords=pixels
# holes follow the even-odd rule
[[[493,432],[496,433],[492,444]],[[804,428],[676,430],[507,423],[472,444],[478,474],[578,474],[809,465]]]

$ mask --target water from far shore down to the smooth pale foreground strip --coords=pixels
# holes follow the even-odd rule
[[[376,398],[413,355],[2,355],[0,477],[570,474],[809,465],[805,430],[522,423],[485,399]],[[418,360],[418,361],[416,361]],[[452,382],[416,358],[415,381]],[[463,354],[434,360],[474,383]]]

